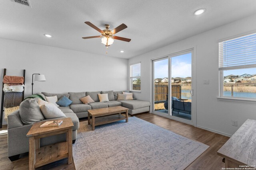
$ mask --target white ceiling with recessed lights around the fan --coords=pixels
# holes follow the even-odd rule
[[[52,47],[129,59],[170,43],[256,14],[255,0],[30,0],[32,8],[2,0],[0,37]],[[194,11],[206,8],[195,16]],[[125,23],[128,28],[108,48],[100,35],[84,22],[100,29]],[[44,33],[53,35],[47,38]],[[124,50],[124,53],[120,53]]]

